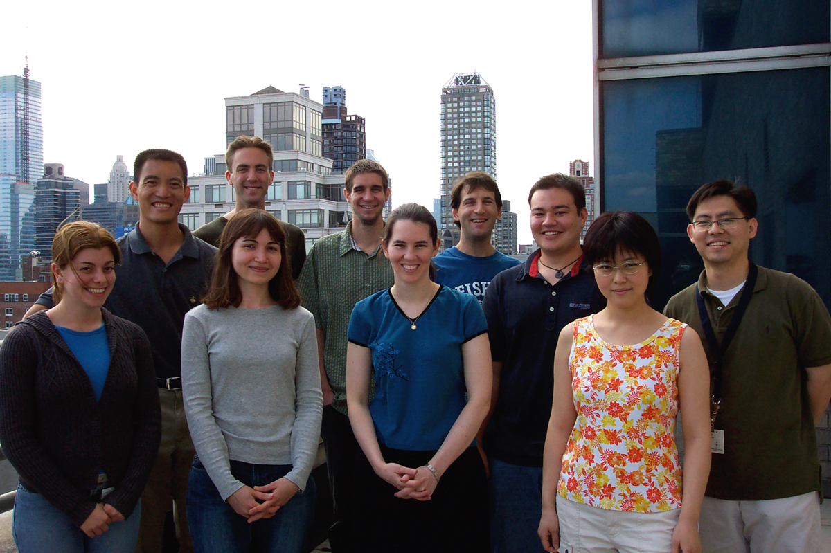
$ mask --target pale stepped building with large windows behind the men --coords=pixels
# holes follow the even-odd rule
[[[265,198],[266,211],[296,224],[307,247],[319,237],[339,232],[352,218],[343,198],[344,175],[322,155],[323,105],[299,94],[268,86],[252,95],[225,98],[225,143],[239,135],[259,136],[274,149],[274,179]],[[190,198],[179,222],[191,230],[234,208],[234,188],[225,181],[225,156],[206,159],[205,174],[188,179]],[[388,210],[385,209],[384,216]],[[127,213],[125,211],[125,221]]]

